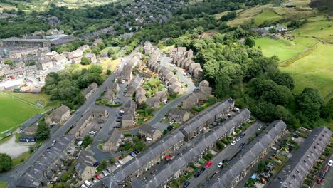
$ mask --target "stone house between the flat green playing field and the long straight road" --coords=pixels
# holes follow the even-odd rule
[[[49,115],[46,115],[45,122],[47,125],[63,124],[70,117],[70,109],[66,105],[61,105]]]

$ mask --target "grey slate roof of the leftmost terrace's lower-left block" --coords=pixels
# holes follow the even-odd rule
[[[113,176],[107,177],[110,179],[110,184],[122,184],[122,181],[124,181],[129,175],[133,174],[142,166],[152,161],[155,157],[161,155],[165,150],[183,139],[184,135],[177,131],[155,142],[152,147],[148,148],[145,152],[142,152],[137,155],[136,158],[129,160],[129,162],[124,164],[122,168],[117,169]]]

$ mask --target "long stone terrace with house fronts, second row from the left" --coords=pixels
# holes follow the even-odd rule
[[[250,113],[250,111],[247,111],[247,109],[243,110],[246,114]],[[223,122],[221,126],[216,126],[212,131],[207,132],[201,139],[196,140],[194,145],[189,147],[187,151],[181,154],[174,162],[164,165],[154,177],[147,179],[144,187],[166,187],[172,179],[178,179],[181,174],[184,174],[186,171],[189,162],[201,159],[203,155],[206,155],[216,147],[218,140],[221,140],[227,135],[231,135],[238,125],[248,120],[249,116],[250,115],[238,114],[233,117],[233,119]]]

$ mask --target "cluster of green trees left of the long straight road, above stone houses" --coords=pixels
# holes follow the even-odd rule
[[[100,65],[92,65],[89,69],[71,66],[58,73],[49,73],[42,90],[51,96],[51,100],[60,100],[69,108],[74,108],[84,101],[81,89],[93,82],[102,84],[102,71]]]

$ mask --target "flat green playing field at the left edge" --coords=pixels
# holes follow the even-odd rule
[[[5,93],[0,93],[0,104],[0,133],[9,129],[14,131],[16,127],[33,115],[45,111],[16,98],[11,98]]]

